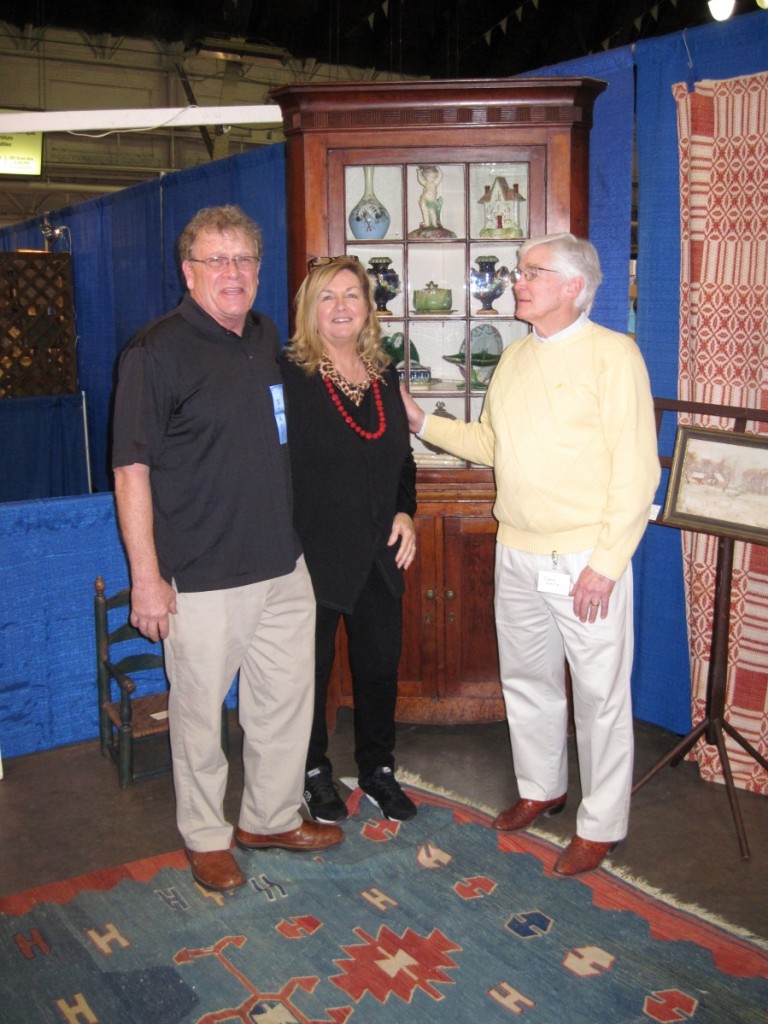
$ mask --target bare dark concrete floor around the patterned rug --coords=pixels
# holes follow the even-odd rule
[[[677,737],[636,723],[636,771],[645,772]],[[331,755],[339,777],[355,776],[351,713],[342,710]],[[230,726],[226,810],[237,820],[242,786],[240,729]],[[571,757],[568,806],[542,830],[573,831],[579,781]],[[170,775],[120,790],[98,744],[79,743],[4,762],[0,781],[0,896],[102,867],[177,850]],[[504,723],[400,725],[397,768],[500,811],[516,798]],[[738,793],[751,848],[742,859],[725,788],[702,782],[694,764],[666,767],[632,805],[630,835],[611,863],[655,889],[768,939],[768,801]]]

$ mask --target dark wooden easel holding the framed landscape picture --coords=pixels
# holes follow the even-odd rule
[[[733,420],[732,430],[734,433],[742,433],[746,424],[768,423],[768,411],[758,409],[748,409],[742,406],[711,406],[700,401],[678,401],[671,398],[654,398],[653,406],[656,416],[656,436],[660,433],[662,419],[666,412],[673,413],[694,413],[701,416],[712,416],[726,420]],[[670,467],[672,458],[660,456],[659,462],[663,466]],[[659,516],[655,520],[660,525],[673,525],[665,523]],[[708,531],[709,532],[709,531]],[[744,860],[750,859],[750,846],[746,842],[746,833],[741,819],[741,811],[736,798],[736,788],[733,784],[728,752],[725,748],[723,733],[727,733],[734,739],[758,764],[768,771],[768,761],[760,754],[752,743],[735,729],[730,722],[725,720],[725,697],[728,677],[728,640],[730,629],[731,609],[731,579],[733,573],[733,545],[731,537],[723,537],[714,529],[711,531],[718,538],[718,559],[715,577],[715,610],[712,624],[712,641],[710,645],[710,672],[707,678],[707,703],[703,719],[686,736],[683,736],[660,760],[658,760],[648,771],[635,782],[632,787],[633,796],[646,782],[650,781],[666,765],[675,767],[685,755],[692,749],[700,737],[706,743],[714,745],[720,755],[720,763],[725,777],[725,787],[728,793],[728,800],[731,805],[733,823],[736,827],[738,846]],[[753,542],[754,543],[754,542]]]

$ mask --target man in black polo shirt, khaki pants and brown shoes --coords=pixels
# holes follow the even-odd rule
[[[316,851],[343,834],[299,814],[314,598],[293,529],[278,330],[251,308],[261,236],[237,207],[206,209],[179,255],[188,293],[120,359],[113,466],[131,623],[164,643],[178,828],[195,879],[225,891],[245,882],[219,731],[238,671],[237,844]]]

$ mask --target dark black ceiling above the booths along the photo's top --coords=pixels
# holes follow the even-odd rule
[[[757,9],[736,0],[734,14]],[[406,76],[518,75],[710,24],[707,0],[0,0],[22,29],[254,47]]]

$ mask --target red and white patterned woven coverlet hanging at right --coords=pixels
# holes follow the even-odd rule
[[[673,88],[680,148],[681,399],[768,409],[768,74]],[[732,426],[681,417],[701,426]],[[768,425],[762,424],[763,430]],[[691,699],[705,715],[717,538],[683,532]],[[768,547],[735,544],[726,717],[768,757]],[[725,737],[736,785],[768,794],[766,773]],[[701,777],[724,781],[714,746]]]

